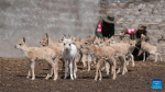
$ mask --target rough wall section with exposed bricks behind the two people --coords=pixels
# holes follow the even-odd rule
[[[164,54],[162,57],[165,57],[165,42],[157,43],[162,36],[165,37],[165,0],[130,0],[130,2],[129,0],[116,0],[120,3],[112,0],[101,1],[101,15],[113,13],[118,19],[116,35],[119,35],[124,27],[138,27],[140,23],[144,23],[147,25],[150,43],[157,46],[158,51]],[[116,38],[119,41],[119,36]]]

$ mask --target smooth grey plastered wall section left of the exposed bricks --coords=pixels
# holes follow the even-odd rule
[[[14,48],[22,37],[40,46],[45,33],[53,41],[94,35],[98,20],[99,0],[0,0],[0,57],[24,56]]]

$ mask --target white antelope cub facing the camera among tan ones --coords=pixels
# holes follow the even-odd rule
[[[72,80],[74,80],[74,78],[76,78],[76,70],[75,70],[75,57],[77,54],[77,48],[76,46],[73,44],[73,37],[70,38],[65,38],[64,36],[64,47],[63,47],[63,59],[65,61],[65,77],[64,79],[67,78],[67,67],[69,65],[69,69],[70,69],[70,78]],[[68,61],[68,64],[67,64]],[[74,77],[73,77],[73,71],[74,71]]]

